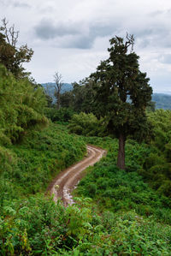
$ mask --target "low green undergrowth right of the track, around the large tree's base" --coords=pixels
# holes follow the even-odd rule
[[[80,181],[78,193],[94,199],[101,209],[114,212],[133,209],[139,215],[153,216],[162,222],[171,223],[171,201],[162,195],[164,188],[161,187],[157,193],[144,182],[143,165],[147,163],[150,146],[127,140],[127,168],[119,170],[115,165],[117,140],[93,137],[85,138],[85,141],[91,143],[91,139],[97,146],[106,148],[108,154],[100,163],[95,164],[94,168],[87,171],[85,178]],[[169,183],[163,184],[169,193]]]

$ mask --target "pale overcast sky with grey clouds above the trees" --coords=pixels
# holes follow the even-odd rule
[[[171,93],[170,0],[0,0],[1,19],[34,51],[26,68],[37,82],[79,81],[108,57],[109,39],[135,37],[140,69],[154,92]]]

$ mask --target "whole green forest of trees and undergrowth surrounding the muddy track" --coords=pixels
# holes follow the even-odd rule
[[[23,68],[33,51],[0,32],[0,255],[170,255],[171,110],[155,110],[133,35],[60,95]],[[7,33],[5,33],[5,31]],[[9,34],[10,36],[10,34]],[[59,98],[58,98],[59,99]],[[59,106],[59,104],[58,104]],[[46,193],[60,171],[107,151],[64,207]]]

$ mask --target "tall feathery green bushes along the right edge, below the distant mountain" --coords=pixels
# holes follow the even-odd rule
[[[154,139],[141,174],[152,188],[171,197],[171,111],[156,110],[148,118],[154,127]]]

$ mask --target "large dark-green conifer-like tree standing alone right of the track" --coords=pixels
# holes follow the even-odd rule
[[[119,139],[117,166],[125,169],[127,136],[140,140],[148,130],[145,108],[152,88],[146,73],[139,70],[139,56],[133,52],[133,35],[127,34],[126,40],[115,36],[109,42],[109,58],[100,63],[91,79],[96,91],[97,113],[105,116],[110,133]]]

